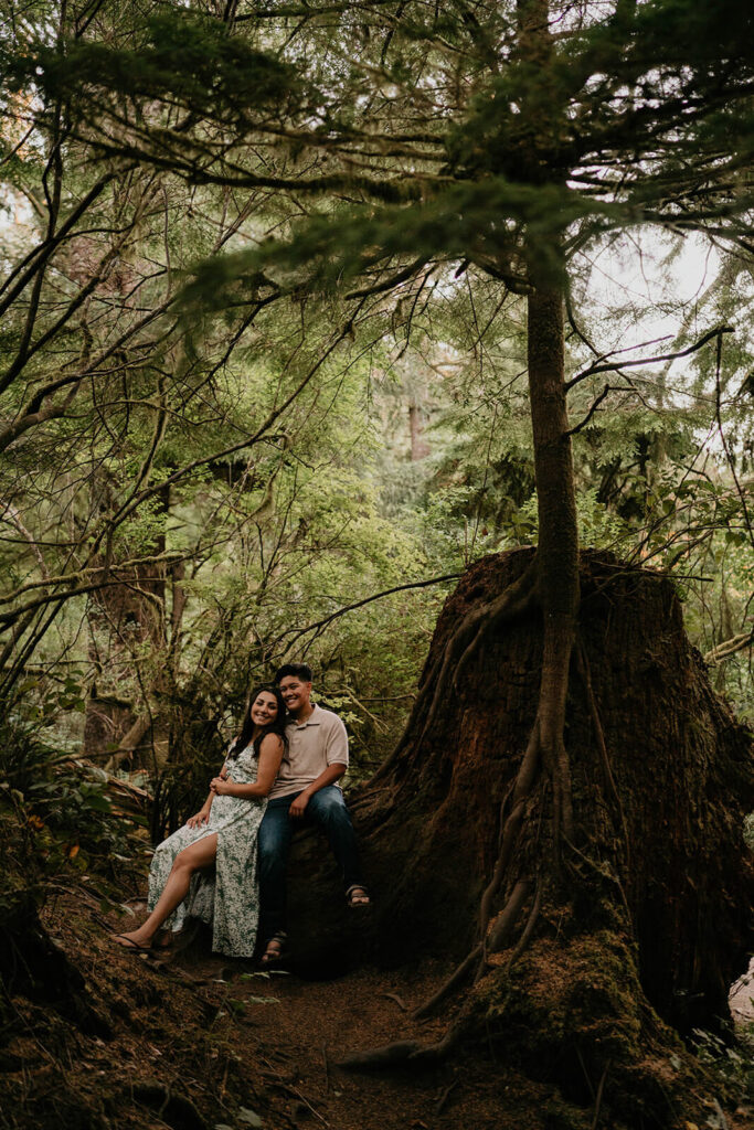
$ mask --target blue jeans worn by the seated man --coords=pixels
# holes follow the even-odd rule
[[[303,820],[296,822],[288,816],[288,809],[300,796],[301,792],[293,792],[275,797],[268,802],[259,826],[259,937],[262,942],[286,928],[286,868],[297,826],[317,824],[324,831],[346,890],[362,883],[354,826],[340,789],[333,784],[320,789],[310,798]]]

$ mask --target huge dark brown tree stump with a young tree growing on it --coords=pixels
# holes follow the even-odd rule
[[[532,557],[514,550],[467,571],[439,618],[422,685],[462,618]],[[670,580],[584,551],[581,594],[565,732],[573,841],[558,852],[540,773],[487,939],[517,884],[520,913],[508,935],[499,930],[503,944],[487,963],[470,966],[463,1007],[530,1067],[549,1057],[552,1070],[564,1055],[563,1078],[573,1077],[577,1049],[596,1087],[612,1055],[630,1088],[649,1033],[666,1032],[662,1022],[716,1025],[746,967],[754,867],[743,820],[754,807],[754,749],[688,643]],[[331,975],[365,956],[458,960],[483,941],[479,905],[536,714],[541,638],[536,606],[494,627],[431,716],[432,695],[419,694],[396,753],[352,794],[375,903],[369,924],[341,909],[327,846],[310,836],[295,849],[302,971]]]

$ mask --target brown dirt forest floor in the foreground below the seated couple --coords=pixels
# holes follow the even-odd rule
[[[307,982],[196,956],[196,946],[193,954],[136,955],[110,932],[128,929],[125,906],[140,915],[138,903],[115,909],[112,888],[103,899],[96,878],[60,886],[43,911],[84,977],[84,1007],[73,1016],[14,999],[16,1034],[0,1051],[0,1125],[590,1130],[599,1121],[595,1104],[578,1111],[562,1102],[546,1064],[544,1081],[532,1081],[496,1061],[492,1046],[431,1069],[340,1068],[354,1050],[443,1033],[447,1018],[410,1019],[447,975],[437,962]],[[711,1119],[716,1110],[711,1093]],[[726,1114],[729,1130],[752,1125],[743,1106],[727,1105]]]

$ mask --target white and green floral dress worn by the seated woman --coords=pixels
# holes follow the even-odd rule
[[[251,745],[226,763],[227,775],[237,784],[257,781],[257,759]],[[159,898],[173,861],[189,844],[217,833],[214,871],[196,872],[184,901],[165,922],[180,930],[187,918],[198,918],[213,928],[213,950],[228,957],[251,957],[259,927],[257,835],[267,798],[216,796],[209,822],[199,828],[183,825],[155,851],[149,869],[149,910]]]

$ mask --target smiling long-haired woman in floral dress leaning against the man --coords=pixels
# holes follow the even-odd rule
[[[280,692],[260,687],[202,808],[155,851],[149,916],[138,930],[113,935],[113,941],[136,953],[149,950],[161,927],[177,931],[191,914],[211,924],[213,950],[252,956],[259,923],[257,833],[285,744]],[[214,876],[198,873],[213,863]]]

